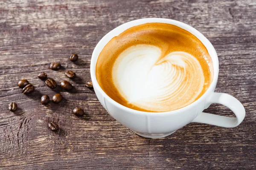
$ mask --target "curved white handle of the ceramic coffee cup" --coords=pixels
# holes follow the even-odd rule
[[[230,108],[236,117],[226,117],[210,113],[199,113],[192,122],[205,123],[221,127],[236,127],[245,116],[244,106],[235,97],[225,93],[212,93],[208,100],[208,104],[218,103]]]

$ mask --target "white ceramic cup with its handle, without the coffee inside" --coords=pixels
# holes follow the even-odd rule
[[[105,94],[105,92],[99,86],[99,83],[96,79],[96,62],[104,46],[113,37],[118,36],[126,29],[145,23],[168,23],[183,28],[195,35],[207,48],[213,62],[212,84],[198,100],[191,103],[190,105],[175,111],[160,113],[137,111],[115,102],[107,94]],[[113,29],[108,34],[106,34],[96,45],[90,64],[90,74],[93,82],[93,88],[99,99],[99,102],[101,102],[108,113],[119,123],[133,130],[134,133],[148,138],[161,138],[168,136],[174,133],[177,129],[180,129],[181,127],[191,122],[206,123],[221,127],[236,127],[239,125],[245,116],[245,110],[241,102],[229,94],[214,92],[218,79],[218,71],[219,64],[216,51],[203,34],[185,23],[163,18],[145,18],[134,20]],[[233,111],[233,113],[235,113],[236,118],[202,112],[212,103],[219,103],[221,105],[227,106],[231,111]]]

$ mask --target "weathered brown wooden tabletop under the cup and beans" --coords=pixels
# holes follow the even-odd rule
[[[90,81],[90,57],[97,42],[116,26],[145,17],[187,23],[215,47],[220,72],[216,91],[239,99],[244,122],[235,128],[189,124],[171,136],[146,139],[116,122],[100,105]],[[256,165],[255,0],[1,0],[0,1],[0,169],[201,169],[252,170]],[[79,54],[79,62],[69,56]],[[59,71],[50,62],[61,62]],[[77,78],[69,80],[65,70]],[[68,93],[37,78],[44,71]],[[20,94],[28,79],[35,92]],[[40,98],[64,96],[44,106]],[[8,104],[16,102],[12,113]],[[74,107],[87,116],[73,116]],[[221,105],[209,113],[231,115]],[[120,113],[121,114],[121,113]],[[59,124],[55,133],[49,121]]]

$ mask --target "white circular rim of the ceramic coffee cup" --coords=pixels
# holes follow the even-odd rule
[[[167,24],[172,24],[172,25],[178,26],[186,31],[189,31],[191,34],[193,34],[195,37],[197,37],[207,48],[207,51],[212,59],[212,64],[213,64],[212,83],[209,86],[209,88],[207,89],[207,91],[200,98],[198,98],[191,104],[189,104],[183,108],[174,110],[174,111],[165,111],[165,112],[138,111],[138,110],[134,110],[134,109],[125,107],[124,105],[121,105],[118,102],[114,101],[100,87],[100,85],[96,79],[96,63],[97,63],[99,54],[102,51],[102,49],[113,37],[118,36],[123,31],[127,30],[128,28],[131,28],[134,26],[139,26],[139,25],[142,25],[145,23],[167,23]],[[103,45],[103,47],[102,47],[102,44],[105,44],[105,45]],[[99,48],[101,48],[101,49],[99,49]],[[99,53],[99,54],[97,55],[96,53]],[[113,30],[109,31],[108,34],[106,34],[104,37],[102,37],[102,39],[97,43],[96,47],[93,50],[93,54],[92,54],[91,62],[90,62],[90,76],[91,76],[91,80],[93,82],[93,88],[99,90],[99,92],[103,95],[103,98],[107,98],[110,102],[113,103],[113,105],[115,105],[115,107],[120,108],[120,109],[125,109],[132,113],[137,113],[137,114],[141,114],[141,115],[146,115],[146,114],[147,115],[148,114],[166,115],[166,114],[174,114],[174,113],[179,113],[179,112],[189,110],[190,108],[193,108],[195,105],[198,105],[198,103],[200,103],[202,100],[204,100],[206,98],[206,96],[208,96],[211,92],[214,92],[215,85],[216,85],[217,79],[218,79],[218,71],[219,71],[218,66],[219,66],[218,56],[217,56],[217,53],[216,53],[215,48],[213,47],[212,43],[209,42],[209,40],[206,37],[204,37],[203,34],[201,34],[198,30],[196,30],[192,26],[189,26],[186,23],[182,23],[177,20],[172,20],[172,19],[167,19],[167,18],[143,18],[143,19],[132,20],[127,23],[124,23],[124,24],[114,28]]]

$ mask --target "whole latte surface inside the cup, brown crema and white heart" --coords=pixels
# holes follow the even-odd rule
[[[128,108],[165,112],[183,108],[209,88],[212,60],[203,43],[166,23],[146,23],[113,37],[102,49],[96,79]]]

